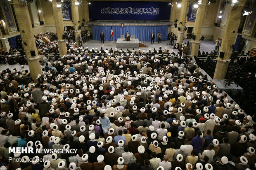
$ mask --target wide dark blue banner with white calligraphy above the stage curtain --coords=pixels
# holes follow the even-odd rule
[[[91,1],[90,19],[119,21],[160,21],[170,19],[168,2]]]

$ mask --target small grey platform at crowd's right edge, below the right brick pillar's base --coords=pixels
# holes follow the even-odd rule
[[[226,82],[225,82],[225,80],[223,80],[223,79],[211,79],[211,81],[213,82],[215,82],[215,84],[216,84],[216,86],[219,88],[219,89],[221,89],[221,90],[223,90],[223,91],[225,91],[225,92],[229,92],[229,91],[231,91],[231,93],[232,93],[232,95],[235,95],[238,91],[240,91],[241,93],[243,93],[243,88],[242,87],[240,87],[240,86],[237,86],[237,85],[235,85],[235,84],[230,84],[229,86],[228,86],[228,84],[225,86],[225,84],[226,84]]]

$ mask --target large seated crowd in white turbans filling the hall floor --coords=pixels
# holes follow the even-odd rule
[[[42,72],[35,81],[23,67],[0,70],[1,169],[255,168],[255,116],[208,82],[192,58],[174,51],[164,56],[167,48],[123,51],[67,42],[68,54],[50,59],[57,45],[48,43],[38,48]],[[78,150],[13,154],[9,147]]]

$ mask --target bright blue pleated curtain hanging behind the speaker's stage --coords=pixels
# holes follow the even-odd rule
[[[157,41],[157,34],[160,32],[162,35],[161,40],[167,40],[168,26],[112,26],[114,35],[110,37],[111,26],[92,26],[93,40],[100,40],[100,33],[103,31],[106,41],[116,41],[120,35],[126,34],[128,31],[130,36],[135,35],[139,41],[150,41],[152,32],[155,34],[155,41]]]

